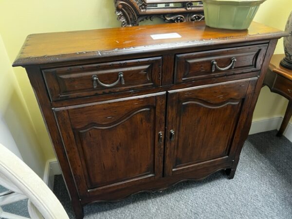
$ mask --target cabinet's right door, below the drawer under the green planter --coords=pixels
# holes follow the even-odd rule
[[[197,171],[196,178],[232,163],[248,86],[245,79],[169,91],[164,175]]]

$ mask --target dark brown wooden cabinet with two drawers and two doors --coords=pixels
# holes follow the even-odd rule
[[[14,66],[26,68],[76,217],[219,170],[233,178],[282,36],[203,21],[28,36]]]

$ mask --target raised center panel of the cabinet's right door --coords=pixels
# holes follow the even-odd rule
[[[233,100],[210,104],[198,99],[182,102],[173,168],[228,156],[241,103]]]

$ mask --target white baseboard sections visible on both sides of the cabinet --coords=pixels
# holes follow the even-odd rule
[[[252,123],[249,134],[256,134],[264,131],[271,131],[279,129],[283,118],[275,117],[269,119],[263,119]],[[289,141],[292,142],[292,124],[289,123],[286,131],[283,134]],[[60,175],[61,169],[56,159],[51,159],[46,162],[43,181],[53,190],[54,188],[54,176]]]

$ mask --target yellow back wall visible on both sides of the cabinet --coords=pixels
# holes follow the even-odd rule
[[[283,29],[291,9],[291,0],[267,0],[260,7],[255,20]],[[0,0],[0,33],[11,63],[29,34],[118,26],[120,23],[116,20],[112,0]],[[282,51],[279,44],[277,53]],[[26,73],[20,67],[14,71],[45,159],[54,158]],[[266,88],[262,90],[258,103],[255,119],[282,115],[286,104],[283,98]]]

